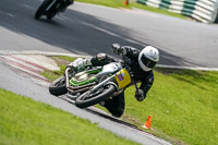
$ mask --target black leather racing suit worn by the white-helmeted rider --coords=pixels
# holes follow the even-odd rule
[[[123,46],[119,48],[119,51],[116,52],[117,55],[125,55],[128,58],[131,59],[130,68],[134,74],[133,78],[135,82],[141,82],[140,89],[143,90],[143,99],[146,97],[147,92],[153,85],[154,82],[154,73],[153,70],[145,72],[141,69],[138,63],[138,55],[140,50],[130,46]],[[99,53],[93,58],[90,58],[92,65],[105,65],[110,62],[114,62],[116,60],[111,57]],[[137,95],[137,94],[136,94]],[[143,99],[138,100],[142,101]],[[121,117],[124,111],[124,92],[111,99],[105,100],[105,107],[108,109],[109,112],[112,113],[114,117]]]

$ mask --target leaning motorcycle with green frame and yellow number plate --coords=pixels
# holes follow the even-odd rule
[[[80,61],[81,58],[71,62],[64,75],[50,84],[50,94],[59,96],[68,93],[74,96],[70,98],[75,100],[75,106],[86,108],[121,94],[133,84],[138,92],[128,57],[123,56],[121,61],[104,67],[88,67],[83,71],[75,69]]]

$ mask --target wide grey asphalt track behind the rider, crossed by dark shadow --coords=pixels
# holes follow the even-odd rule
[[[160,49],[159,64],[218,68],[218,25],[75,2],[52,21],[34,20],[39,0],[0,1],[0,50],[112,55],[113,43]],[[112,55],[113,56],[113,55]]]

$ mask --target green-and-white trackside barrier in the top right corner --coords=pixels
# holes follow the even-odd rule
[[[136,0],[136,2],[180,13],[204,23],[214,23],[218,16],[218,0]]]

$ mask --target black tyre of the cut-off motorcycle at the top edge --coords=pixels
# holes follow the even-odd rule
[[[41,15],[44,15],[46,13],[46,9],[50,5],[50,3],[52,2],[53,0],[45,0],[40,7],[38,8],[38,10],[36,11],[35,13],[35,19],[38,20],[40,19]]]

